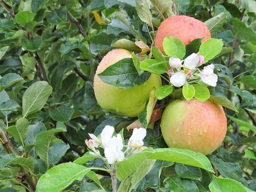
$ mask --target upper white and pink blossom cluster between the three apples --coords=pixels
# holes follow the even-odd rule
[[[214,74],[214,65],[211,64],[203,68],[202,71],[200,67],[204,63],[204,57],[198,53],[192,53],[190,56],[181,60],[179,58],[170,58],[169,65],[173,68],[168,70],[171,76],[170,82],[175,87],[183,86],[187,81],[201,81],[210,86],[215,87],[218,81],[218,75]]]

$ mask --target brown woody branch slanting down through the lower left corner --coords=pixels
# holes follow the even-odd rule
[[[11,141],[9,140],[9,137],[7,136],[6,132],[3,130],[1,126],[0,126],[0,138],[1,138],[1,141],[3,142],[3,147],[8,153],[13,153],[16,156],[19,156],[17,150],[12,145]],[[30,176],[29,172],[27,172],[27,170],[22,166],[18,166],[18,167],[20,167],[20,171],[24,174],[24,178],[27,181],[27,184],[31,187],[33,191],[35,191],[36,185],[33,182],[33,179]]]

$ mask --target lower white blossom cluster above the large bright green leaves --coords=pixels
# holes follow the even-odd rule
[[[86,141],[89,149],[94,154],[100,154],[95,148],[101,147],[104,149],[104,155],[109,164],[122,161],[125,159],[125,155],[128,156],[132,153],[140,152],[145,149],[143,139],[146,137],[146,129],[135,128],[128,141],[128,146],[123,143],[123,137],[121,134],[114,134],[114,127],[106,125],[101,132],[100,137],[96,137],[94,134],[89,134],[91,139]],[[123,152],[123,148],[127,147],[127,150]],[[101,156],[100,156],[101,157]]]

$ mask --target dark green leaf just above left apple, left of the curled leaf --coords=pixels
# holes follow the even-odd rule
[[[93,55],[104,54],[112,50],[111,43],[117,39],[115,34],[100,33],[90,37],[90,51]]]

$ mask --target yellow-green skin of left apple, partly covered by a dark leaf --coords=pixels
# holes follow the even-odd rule
[[[128,50],[111,50],[104,56],[94,76],[94,93],[102,109],[122,116],[137,117],[144,110],[150,92],[162,85],[161,77],[151,74],[145,83],[131,89],[121,89],[101,81],[98,74],[123,58],[131,58]]]

